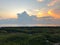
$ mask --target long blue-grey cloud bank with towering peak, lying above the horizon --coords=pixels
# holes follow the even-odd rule
[[[43,24],[45,26],[48,25],[60,25],[60,19],[54,19],[52,16],[45,16],[41,18],[37,18],[36,16],[29,16],[26,12],[19,13],[18,14],[18,19],[5,19],[5,20],[0,20],[0,24],[22,24],[23,26],[25,25],[34,25],[36,24],[40,25]],[[37,25],[37,26],[38,26]],[[42,26],[42,25],[40,25]]]

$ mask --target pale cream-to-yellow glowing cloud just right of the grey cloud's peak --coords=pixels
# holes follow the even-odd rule
[[[46,8],[41,8],[41,9],[33,9],[33,10],[28,10],[28,12],[31,14],[31,15],[35,15],[36,17],[44,17],[44,16],[48,16],[48,13],[47,13],[47,9]]]

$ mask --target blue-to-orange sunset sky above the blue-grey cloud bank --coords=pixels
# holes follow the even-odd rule
[[[37,17],[60,18],[60,0],[0,0],[0,19],[17,18],[17,13],[27,11]]]

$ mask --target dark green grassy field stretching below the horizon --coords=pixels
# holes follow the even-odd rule
[[[0,45],[54,45],[60,43],[60,27],[1,27]]]

